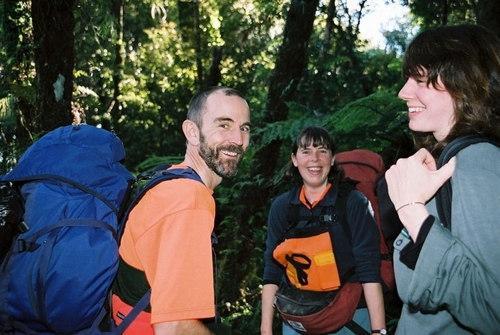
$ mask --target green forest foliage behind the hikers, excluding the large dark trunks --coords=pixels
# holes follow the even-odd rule
[[[476,2],[448,1],[449,22],[473,22]],[[401,56],[415,22],[424,27],[439,24],[440,2],[412,1],[415,20],[420,21],[386,32],[385,50],[367,49],[359,40],[356,20],[363,18],[349,14],[344,2],[338,4],[327,41],[328,11],[326,2],[321,2],[308,66],[297,94],[288,102],[287,119],[272,124],[262,120],[272,112],[266,110],[269,80],[283,42],[289,2],[125,0],[123,17],[113,3],[82,0],[74,11],[73,108],[83,113],[87,123],[117,133],[125,144],[125,164],[131,171],[182,161],[181,123],[191,96],[210,75],[218,74],[218,84],[237,88],[247,97],[252,123],[257,126],[238,176],[224,180],[215,190],[220,238],[216,249],[224,322],[233,326],[234,334],[257,334],[267,214],[272,198],[289,187],[283,177],[292,141],[305,126],[322,125],[335,136],[339,150],[372,149],[383,155],[387,165],[408,155],[412,143],[406,106],[397,98],[403,84]],[[29,141],[35,137],[20,133],[19,117],[29,114],[26,106],[33,108],[35,96],[28,2],[1,0],[0,10],[3,173],[24,151],[17,134]],[[198,21],[190,13],[199,15]],[[271,178],[257,175],[250,179],[255,152],[276,141],[281,146],[273,152],[277,168],[269,174]],[[256,188],[269,190],[255,195],[267,197],[262,207],[254,206],[254,194],[249,194]],[[248,212],[251,215],[242,215]],[[242,222],[242,217],[249,218]]]

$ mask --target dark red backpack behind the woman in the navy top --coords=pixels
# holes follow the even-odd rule
[[[386,239],[382,233],[379,203],[376,194],[377,183],[386,171],[384,161],[379,154],[364,149],[338,153],[335,155],[335,161],[344,169],[346,178],[357,181],[356,189],[370,200],[380,233],[380,275],[385,289],[392,291],[396,287],[392,254],[389,252]]]

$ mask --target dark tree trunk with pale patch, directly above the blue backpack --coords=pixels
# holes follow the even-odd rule
[[[74,0],[32,2],[37,132],[71,124]]]

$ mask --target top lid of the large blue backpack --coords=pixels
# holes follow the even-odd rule
[[[86,124],[62,126],[33,143],[2,179],[55,178],[102,194],[119,208],[126,185],[135,179],[122,165],[124,158],[115,134]]]

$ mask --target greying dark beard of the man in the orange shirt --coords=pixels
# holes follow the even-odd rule
[[[223,160],[219,157],[221,151],[235,152],[240,156],[237,159],[227,159]],[[236,145],[228,145],[219,148],[210,148],[205,140],[203,134],[200,135],[200,148],[198,149],[201,158],[205,161],[205,164],[214,171],[217,175],[222,178],[230,178],[236,176],[238,173],[238,167],[241,160],[243,159],[243,154],[245,150]]]

